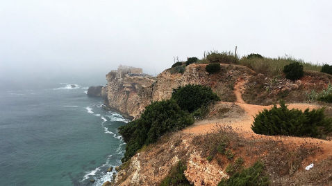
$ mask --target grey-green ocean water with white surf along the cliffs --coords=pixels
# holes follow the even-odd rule
[[[88,97],[87,86],[0,90],[0,185],[101,185],[112,178],[115,170],[107,169],[121,164],[125,147],[117,128],[128,120]]]

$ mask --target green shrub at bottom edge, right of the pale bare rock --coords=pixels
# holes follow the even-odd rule
[[[264,165],[256,162],[253,166],[236,172],[229,179],[222,179],[218,186],[267,186],[269,178],[264,174]]]

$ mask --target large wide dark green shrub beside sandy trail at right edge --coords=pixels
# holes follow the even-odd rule
[[[285,102],[280,107],[274,105],[272,109],[264,109],[258,113],[251,125],[255,133],[267,136],[306,136],[325,138],[332,131],[332,119],[326,118],[323,109],[301,111],[288,109]]]

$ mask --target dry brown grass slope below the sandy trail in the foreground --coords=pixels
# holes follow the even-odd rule
[[[304,160],[314,156],[320,150],[314,145],[286,145],[280,140],[266,138],[251,138],[251,140],[248,140],[235,133],[231,127],[219,127],[213,133],[196,136],[192,143],[201,151],[202,157],[213,156],[217,161],[217,165],[225,170],[227,165],[233,163],[233,160],[227,160],[225,155],[220,154],[217,150],[220,142],[225,141],[228,144],[226,149],[233,151],[235,154],[233,160],[242,157],[244,167],[253,165],[256,160],[264,162],[265,173],[269,175],[271,183],[276,185],[304,185],[314,183],[315,179],[322,182],[331,178],[332,160],[320,162],[319,167],[324,168],[319,169],[317,178],[314,176],[308,178],[310,174],[302,170]]]

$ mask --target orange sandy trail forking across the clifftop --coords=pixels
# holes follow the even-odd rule
[[[241,94],[241,86],[244,84],[244,81],[241,80],[238,84],[235,84],[234,93],[237,97],[238,106],[240,106],[245,111],[244,117],[237,118],[235,120],[229,120],[225,122],[225,120],[213,120],[213,121],[205,121],[205,122],[196,122],[192,127],[188,127],[183,131],[185,133],[192,133],[194,135],[211,133],[220,126],[231,126],[236,132],[240,133],[244,138],[265,138],[272,140],[281,140],[285,144],[290,145],[316,145],[322,148],[322,152],[317,154],[315,157],[312,157],[311,160],[322,160],[325,158],[329,158],[332,156],[332,141],[331,140],[320,140],[317,138],[299,138],[299,137],[291,137],[291,136],[265,136],[254,133],[251,130],[251,124],[254,122],[254,116],[258,114],[263,109],[269,109],[273,105],[269,106],[261,106],[255,104],[246,104],[244,100],[242,100]],[[221,102],[223,103],[223,102]],[[301,109],[304,111],[305,109],[317,109],[317,105],[313,104],[287,104],[289,109]],[[308,161],[311,161],[308,160]]]

